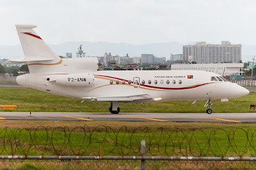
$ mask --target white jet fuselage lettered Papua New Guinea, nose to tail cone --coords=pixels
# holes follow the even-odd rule
[[[220,75],[211,72],[171,70],[61,72],[29,73],[19,76],[17,82],[23,86],[72,98],[128,97],[143,94],[152,97],[140,102],[215,100],[241,97],[248,93],[247,89],[231,82],[211,81],[211,77],[218,76]]]

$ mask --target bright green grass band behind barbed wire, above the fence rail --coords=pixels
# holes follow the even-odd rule
[[[255,157],[256,128],[0,128],[0,155]]]

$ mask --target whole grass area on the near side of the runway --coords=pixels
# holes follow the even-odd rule
[[[140,141],[145,139],[147,155],[256,157],[255,123],[28,120],[0,122],[0,155],[140,155]],[[4,130],[4,127],[10,125],[12,125],[10,129]],[[45,132],[43,128],[35,129],[41,125],[49,127],[49,131]],[[64,128],[65,126],[68,128]],[[76,128],[77,126],[86,126],[90,130],[84,135],[83,130]],[[130,132],[125,133],[123,126],[127,126]],[[22,128],[26,130],[21,130]],[[34,130],[29,130],[31,128]],[[173,132],[177,128],[180,131]],[[63,129],[66,131],[63,132]],[[3,137],[7,141],[4,148]],[[211,147],[208,140],[210,138]],[[12,142],[13,139],[19,143]],[[52,139],[52,142],[49,139]],[[248,144],[248,141],[252,145]],[[31,144],[32,147],[29,147]],[[55,150],[52,150],[52,144]],[[256,165],[251,162],[147,161],[146,167],[147,169],[254,169]],[[140,169],[140,161],[4,160],[0,164],[0,169],[2,168]]]

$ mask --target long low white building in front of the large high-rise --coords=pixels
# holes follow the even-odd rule
[[[171,65],[171,70],[201,70],[218,73],[222,76],[243,74],[244,63],[214,63],[214,64],[182,64]]]

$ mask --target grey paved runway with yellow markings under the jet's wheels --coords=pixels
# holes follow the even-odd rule
[[[0,120],[256,122],[256,112],[243,113],[131,113],[121,112],[0,112]]]

